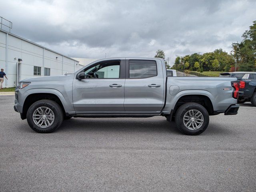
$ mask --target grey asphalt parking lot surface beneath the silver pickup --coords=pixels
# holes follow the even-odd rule
[[[0,96],[0,191],[256,191],[256,108],[186,136],[164,117],[71,118],[38,134]]]

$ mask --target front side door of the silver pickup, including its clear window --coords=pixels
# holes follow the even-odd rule
[[[124,112],[125,60],[98,62],[81,72],[87,77],[73,82],[76,114]]]

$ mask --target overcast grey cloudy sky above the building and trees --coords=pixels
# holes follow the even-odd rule
[[[12,33],[71,57],[231,50],[256,20],[256,0],[0,0]]]

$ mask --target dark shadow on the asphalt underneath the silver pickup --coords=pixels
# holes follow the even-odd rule
[[[152,132],[184,135],[176,128],[175,122],[168,122],[165,118],[71,118],[64,120],[56,132]],[[203,134],[226,133],[228,132],[224,126],[209,124]]]

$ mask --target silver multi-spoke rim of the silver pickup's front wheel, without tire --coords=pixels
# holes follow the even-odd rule
[[[54,122],[54,113],[48,107],[38,107],[33,113],[33,121],[40,128],[47,128]]]

